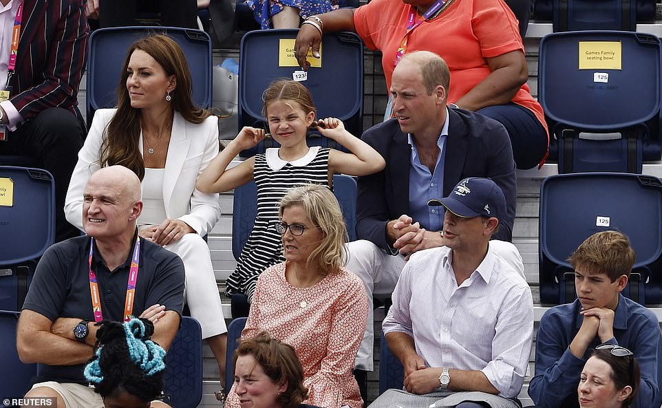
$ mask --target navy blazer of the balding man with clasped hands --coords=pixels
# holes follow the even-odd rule
[[[506,129],[496,120],[462,109],[448,109],[449,125],[444,166],[444,196],[467,177],[487,177],[506,196],[506,215],[500,219],[495,239],[511,241],[517,179],[513,149]],[[361,139],[386,160],[378,173],[359,177],[356,203],[356,236],[387,249],[386,224],[409,215],[409,160],[411,147],[396,119],[375,125]],[[441,198],[441,197],[436,197]],[[414,221],[419,221],[414,219]],[[421,227],[428,226],[421,223]]]

